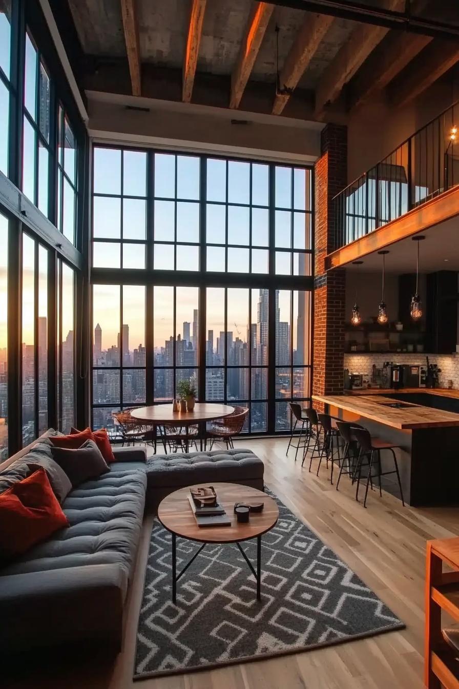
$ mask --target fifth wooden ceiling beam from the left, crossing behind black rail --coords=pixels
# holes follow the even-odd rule
[[[396,10],[398,7],[400,7],[400,0],[390,0],[387,9]],[[315,109],[317,119],[323,118],[328,105],[337,100],[343,86],[352,79],[387,32],[388,29],[383,26],[358,25],[348,40],[341,45],[319,80]]]

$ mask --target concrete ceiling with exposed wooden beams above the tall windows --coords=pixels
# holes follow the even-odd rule
[[[377,21],[375,24],[371,17],[362,14],[357,14],[359,20],[363,17],[361,21],[353,21],[346,14],[346,8],[352,10],[352,1],[341,3],[345,19],[341,15],[331,17],[332,12],[325,17],[292,9],[287,6],[289,1],[293,0],[273,0],[273,4],[255,0],[50,3],[59,31],[67,32],[64,44],[66,40],[79,43],[72,67],[78,74],[81,90],[131,93],[215,107],[228,107],[231,103],[233,108],[250,112],[321,122],[345,121],[346,110],[374,97],[374,81],[381,84],[376,87],[379,95],[387,93],[390,99],[391,86],[401,76],[406,103],[459,63],[459,41],[451,41],[448,33],[449,43],[443,41],[444,33],[432,41],[438,25],[426,29],[428,41],[423,42],[407,23],[403,23],[402,32],[400,23],[396,24],[398,31],[394,31],[386,25],[376,25]],[[412,17],[429,16],[437,22],[449,21],[453,26],[459,21],[457,2],[412,0]],[[127,25],[123,25],[122,6]],[[201,12],[202,21],[190,24],[192,6]],[[405,12],[405,0],[364,0],[360,6],[402,15]],[[266,20],[257,24],[255,17],[259,12]],[[74,28],[70,30],[72,21]],[[281,94],[275,92],[276,25],[279,72],[282,86],[288,88]],[[398,42],[394,41],[394,34],[398,35]],[[189,37],[192,48],[186,55]],[[405,48],[408,57],[401,59]],[[182,91],[185,55],[188,83]],[[429,80],[428,75],[423,75],[419,85],[420,66],[429,67],[431,61],[438,63],[431,70],[433,76]],[[231,86],[236,72],[237,96]]]

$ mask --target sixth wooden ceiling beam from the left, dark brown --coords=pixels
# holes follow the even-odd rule
[[[430,36],[420,34],[389,34],[381,50],[376,48],[350,82],[349,106],[365,103],[376,92],[382,91],[431,40]]]

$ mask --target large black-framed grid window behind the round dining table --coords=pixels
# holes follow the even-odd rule
[[[312,171],[96,145],[92,407],[198,399],[290,428],[310,399]],[[134,334],[136,333],[136,334]]]

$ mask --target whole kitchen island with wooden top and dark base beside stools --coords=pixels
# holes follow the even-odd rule
[[[403,496],[407,504],[415,507],[456,505],[459,503],[459,413],[401,402],[387,396],[413,392],[459,398],[457,390],[416,388],[312,395],[312,400],[321,403],[325,413],[364,426],[373,437],[396,447]],[[387,406],[394,402],[407,406]],[[381,452],[381,467],[383,472],[393,471],[391,453]],[[381,487],[400,497],[398,486],[392,479],[392,476],[383,477]]]

